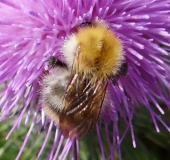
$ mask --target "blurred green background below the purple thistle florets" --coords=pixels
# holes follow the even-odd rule
[[[167,107],[164,105],[161,106],[165,110],[165,115],[161,118],[170,125],[170,112],[166,109]],[[137,113],[138,115],[133,119],[137,147],[133,148],[131,134],[128,131],[121,145],[122,160],[170,160],[170,133],[160,123],[158,123],[160,132],[156,132],[151,116],[145,107],[138,108]],[[29,126],[22,124],[19,129],[13,132],[8,140],[5,140],[6,135],[12,127],[11,122],[14,120],[15,117],[0,123],[0,160],[14,160],[28,132]],[[125,129],[125,124],[121,119],[119,129],[120,133]],[[101,128],[101,134],[104,135],[102,136],[102,140],[105,146],[106,157],[109,159],[109,148],[104,132],[105,129],[103,127]],[[43,131],[38,135],[37,128],[35,127],[20,158],[21,160],[36,159],[45,134],[45,131]],[[52,133],[40,160],[45,160],[48,156],[54,136],[55,133]],[[95,131],[81,140],[80,147],[80,160],[102,160]],[[117,160],[117,154],[115,157]],[[71,159],[71,157],[68,157],[68,159]]]

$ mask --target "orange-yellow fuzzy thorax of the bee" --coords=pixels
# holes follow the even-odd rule
[[[76,34],[79,72],[95,78],[115,75],[124,59],[120,40],[106,26],[85,27]]]

